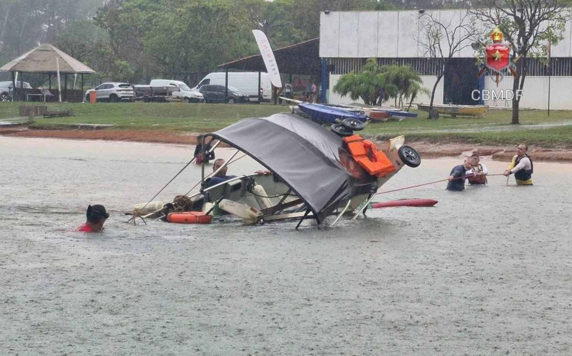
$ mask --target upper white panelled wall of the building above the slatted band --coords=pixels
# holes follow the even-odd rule
[[[572,15],[571,11],[568,11]],[[467,10],[426,11],[442,23],[458,25]],[[424,17],[419,11],[332,11],[320,14],[320,57],[426,57],[423,39]],[[482,33],[489,26],[476,23]],[[563,39],[552,46],[553,57],[572,56],[572,19],[566,23]],[[470,45],[470,41],[466,43]],[[456,57],[472,57],[467,46]]]

